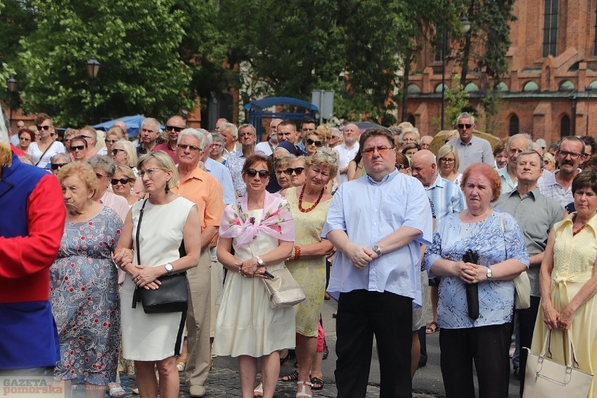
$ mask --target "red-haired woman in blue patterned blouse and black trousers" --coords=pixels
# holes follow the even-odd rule
[[[476,163],[460,183],[467,209],[439,222],[425,250],[430,277],[439,284],[439,348],[447,398],[474,398],[473,362],[479,397],[507,396],[514,277],[528,267],[521,228],[512,216],[490,206],[500,195],[500,177]],[[463,256],[471,249],[478,261]],[[479,315],[469,315],[467,287],[476,284]]]

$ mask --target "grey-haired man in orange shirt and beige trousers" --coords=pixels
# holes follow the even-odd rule
[[[205,396],[205,380],[210,373],[210,242],[224,215],[219,181],[199,166],[204,147],[203,135],[197,130],[187,128],[180,132],[176,149],[180,181],[174,192],[197,203],[201,221],[199,266],[186,271],[189,296],[185,376],[191,397]]]

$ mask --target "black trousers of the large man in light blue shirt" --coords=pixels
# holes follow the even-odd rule
[[[378,348],[380,398],[412,397],[412,299],[387,291],[340,294],[336,318],[338,398],[365,397],[373,335]]]

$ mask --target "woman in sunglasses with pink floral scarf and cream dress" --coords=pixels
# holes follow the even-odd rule
[[[242,397],[252,397],[261,358],[263,397],[272,398],[280,374],[278,350],[293,348],[294,309],[276,308],[262,278],[284,267],[294,245],[287,200],[266,191],[270,158],[248,156],[242,167],[247,195],[228,205],[218,243],[218,260],[228,270],[217,315],[214,355],[238,357]],[[234,249],[234,254],[232,254]]]

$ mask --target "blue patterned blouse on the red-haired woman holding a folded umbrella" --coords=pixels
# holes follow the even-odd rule
[[[510,214],[494,211],[483,221],[469,224],[460,221],[458,213],[453,213],[440,221],[434,233],[433,244],[425,250],[425,266],[430,277],[434,277],[435,261],[460,261],[467,249],[479,253],[479,263],[483,266],[516,259],[528,267],[528,254],[521,228]],[[441,277],[437,318],[442,329],[505,324],[512,320],[512,308],[514,282],[480,282],[479,318],[472,320],[467,312],[465,283],[458,277]]]

